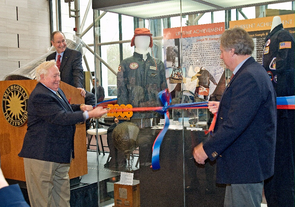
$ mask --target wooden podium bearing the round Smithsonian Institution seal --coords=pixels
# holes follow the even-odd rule
[[[12,122],[12,120],[10,120],[9,123],[5,118],[8,117],[8,115],[5,112],[4,104],[5,102],[9,103],[10,108],[15,107],[14,103],[20,103],[22,106],[22,91],[26,91],[27,95],[29,96],[32,90],[34,90],[36,84],[36,80],[0,81],[0,95],[2,98],[2,112],[0,113],[0,159],[1,169],[5,178],[26,181],[24,175],[23,158],[20,158],[17,155],[22,149],[24,135],[27,132],[27,121],[18,127],[14,125],[17,125],[19,122]],[[18,88],[17,85],[20,85],[24,90],[21,89],[19,91],[12,92],[13,88]],[[63,90],[68,100],[71,98],[71,104],[84,103],[84,97],[81,96],[79,89],[64,82],[60,82],[60,88]],[[13,109],[10,111],[10,113],[13,113]],[[24,112],[24,114],[26,114],[26,112]],[[40,133],[42,133],[42,129],[40,129]],[[69,171],[70,178],[76,178],[78,176],[87,174],[85,123],[76,125],[74,145],[75,159],[73,159],[71,163]]]

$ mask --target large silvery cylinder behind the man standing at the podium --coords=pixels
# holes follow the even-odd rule
[[[82,53],[82,57],[86,52],[85,43],[76,35],[65,32],[65,39],[67,41],[67,47],[70,49],[78,50]],[[25,64],[24,66],[16,69],[15,71],[7,74],[3,80],[32,80],[35,79],[35,68],[40,65],[42,62],[46,61],[48,55],[55,52],[56,49],[54,46],[51,46],[49,51],[38,57],[37,59]]]

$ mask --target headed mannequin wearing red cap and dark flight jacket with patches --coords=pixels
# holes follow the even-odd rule
[[[133,46],[135,46],[133,56],[124,59],[119,65],[118,104],[131,104],[132,107],[161,106],[157,95],[167,88],[165,66],[162,61],[151,57],[148,52],[148,48],[153,46],[150,30],[136,28],[131,41],[131,47]],[[140,119],[139,127],[146,127],[150,126],[150,118],[160,116],[157,112],[134,112],[130,119]]]

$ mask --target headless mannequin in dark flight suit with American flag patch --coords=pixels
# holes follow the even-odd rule
[[[275,16],[265,39],[263,67],[268,72],[277,97],[295,95],[295,41]],[[264,181],[268,207],[295,206],[295,111],[277,110],[274,175]]]

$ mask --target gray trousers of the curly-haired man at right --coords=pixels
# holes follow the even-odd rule
[[[261,183],[228,184],[225,189],[224,207],[260,207]]]

